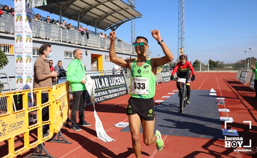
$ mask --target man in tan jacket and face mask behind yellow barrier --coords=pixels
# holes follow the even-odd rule
[[[52,49],[51,44],[43,44],[39,49],[40,56],[34,64],[34,81],[33,88],[52,87],[53,81],[57,80],[57,72],[50,72],[48,60],[46,58],[51,57]],[[41,93],[41,104],[48,101],[48,91],[44,90]],[[49,109],[48,106],[42,109],[42,121],[49,120]],[[47,136],[49,125],[43,125],[43,137]]]

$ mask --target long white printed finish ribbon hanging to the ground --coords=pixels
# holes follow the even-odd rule
[[[96,113],[96,110],[95,110],[95,85],[94,85],[94,80],[92,80],[92,78],[90,78],[89,75],[85,75],[83,80],[86,81],[85,83],[85,86],[87,88],[87,92],[89,93],[90,95],[90,99],[91,99],[91,102],[93,104],[93,107],[94,107],[94,117],[95,117],[95,120],[96,120],[96,134],[97,134],[97,137],[101,140],[103,140],[104,142],[112,142],[112,141],[115,141],[114,139],[112,139],[111,137],[109,137],[104,128],[103,128],[103,124],[100,120],[100,118],[98,117],[97,113]]]

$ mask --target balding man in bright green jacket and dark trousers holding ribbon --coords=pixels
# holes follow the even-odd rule
[[[90,126],[85,119],[85,96],[86,87],[85,80],[85,67],[81,62],[82,51],[80,49],[75,49],[73,51],[74,59],[70,62],[67,68],[67,81],[70,82],[70,88],[73,95],[72,110],[70,115],[71,120],[71,130],[80,131],[79,126]],[[77,111],[79,111],[79,126],[77,125]]]

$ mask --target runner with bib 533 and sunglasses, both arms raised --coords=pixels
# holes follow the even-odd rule
[[[131,97],[128,100],[127,115],[129,129],[131,131],[132,146],[136,157],[141,157],[141,145],[139,142],[140,124],[143,127],[143,139],[146,145],[154,142],[158,151],[163,149],[163,140],[161,133],[154,132],[154,94],[157,67],[164,65],[174,59],[170,49],[163,42],[159,30],[151,30],[152,36],[163,49],[164,57],[148,58],[146,50],[149,48],[148,40],[145,37],[138,36],[135,43],[137,60],[121,59],[116,56],[114,44],[116,32],[110,32],[110,61],[120,65],[123,68],[131,70]]]

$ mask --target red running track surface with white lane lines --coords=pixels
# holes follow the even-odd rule
[[[237,130],[239,136],[244,137],[245,140],[252,139],[252,147],[256,147],[257,101],[252,100],[255,95],[254,90],[236,81],[236,73],[198,72],[195,76],[196,79],[191,83],[191,89],[211,90],[214,88],[217,91],[217,97],[225,98],[225,105],[218,105],[219,108],[230,109],[230,112],[220,112],[220,116],[234,119],[234,122],[229,123],[227,128]],[[160,83],[156,86],[154,100],[165,100],[161,97],[169,96],[167,93],[172,93],[172,90],[176,90],[175,81]],[[85,120],[92,126],[82,127],[82,130],[78,132],[63,127],[62,133],[72,144],[45,142],[47,151],[59,158],[135,157],[130,133],[120,132],[121,128],[113,126],[118,122],[128,122],[126,107],[129,97],[125,95],[96,105],[97,114],[106,133],[116,141],[106,143],[96,137],[94,110],[93,106],[89,106],[85,108]],[[243,121],[252,121],[252,129],[249,129],[249,124]],[[224,129],[224,123],[221,122],[221,124]],[[252,157],[244,152],[234,152],[233,148],[225,148],[224,140],[169,135],[163,135],[162,138],[165,143],[164,148],[162,151],[157,151],[155,144],[146,146],[140,134],[142,157]],[[247,145],[247,141],[244,143]],[[24,157],[32,152],[33,150],[30,150],[18,157]]]

